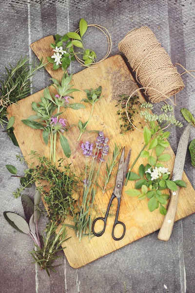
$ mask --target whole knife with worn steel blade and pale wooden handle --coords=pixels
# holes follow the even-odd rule
[[[191,124],[188,124],[188,126],[186,126],[186,128],[184,129],[180,137],[179,144],[177,147],[177,152],[176,152],[176,160],[175,160],[175,165],[173,170],[172,181],[182,179],[185,157],[186,157],[186,152],[188,147],[188,140],[190,136],[190,127],[191,127]],[[177,186],[176,191],[171,190],[171,198],[169,201],[167,213],[164,216],[162,226],[158,233],[159,240],[168,241],[169,238],[171,237],[171,233],[173,230],[174,221],[176,217],[178,197],[179,197],[179,187]]]

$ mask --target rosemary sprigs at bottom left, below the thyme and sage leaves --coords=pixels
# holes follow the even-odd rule
[[[54,260],[61,258],[62,256],[57,255],[57,252],[63,250],[64,248],[61,245],[67,241],[69,238],[66,238],[66,226],[65,224],[60,228],[59,233],[56,232],[57,222],[49,222],[45,230],[46,234],[42,234],[42,248],[35,245],[36,250],[30,251],[35,261],[40,266],[41,270],[45,270],[49,274],[49,269],[53,272],[56,272],[55,268],[59,265],[54,266]]]

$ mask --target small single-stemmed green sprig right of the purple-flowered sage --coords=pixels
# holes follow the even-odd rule
[[[96,89],[91,88],[91,89],[84,90],[87,94],[87,99],[82,99],[81,102],[83,101],[85,103],[90,103],[92,105],[92,110],[91,110],[91,114],[89,116],[89,119],[86,122],[83,123],[81,120],[78,121],[78,129],[80,131],[78,141],[80,140],[80,138],[84,132],[98,132],[98,130],[88,131],[88,130],[86,130],[86,128],[92,118],[95,104],[102,98],[102,96],[100,96],[101,90],[102,90],[101,86],[99,86]]]

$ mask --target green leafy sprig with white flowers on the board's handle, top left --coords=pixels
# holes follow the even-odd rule
[[[65,71],[69,66],[71,61],[76,60],[75,55],[81,54],[84,65],[90,66],[95,58],[97,58],[96,53],[93,50],[85,49],[83,44],[83,35],[87,31],[87,21],[83,18],[79,22],[79,32],[69,32],[63,36],[56,35],[55,43],[51,43],[50,46],[55,52],[53,56],[47,57],[50,63],[53,63],[53,69],[57,70],[59,67]],[[81,49],[81,52],[76,53],[74,51],[74,46]]]

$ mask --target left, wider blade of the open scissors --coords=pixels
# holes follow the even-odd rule
[[[117,170],[117,178],[116,178],[115,189],[114,189],[114,194],[117,198],[121,197],[121,191],[123,186],[124,158],[125,158],[125,147],[123,147],[123,150],[120,156],[118,170]]]

